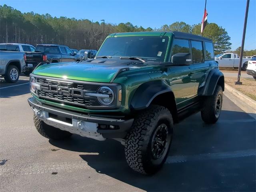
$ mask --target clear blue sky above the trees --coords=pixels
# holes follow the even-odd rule
[[[4,4],[21,12],[160,28],[176,21],[200,23],[205,0],[0,0]],[[206,10],[208,22],[228,32],[232,50],[241,46],[246,0],[207,0]],[[256,49],[256,0],[250,0],[244,49]]]

